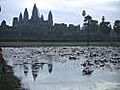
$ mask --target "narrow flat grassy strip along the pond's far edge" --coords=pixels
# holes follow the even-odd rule
[[[90,46],[120,46],[120,42],[90,42]],[[2,47],[87,46],[87,42],[0,42]]]

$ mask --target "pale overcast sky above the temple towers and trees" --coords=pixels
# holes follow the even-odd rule
[[[39,15],[43,14],[45,19],[52,10],[54,23],[81,24],[83,10],[93,19],[100,20],[105,16],[111,23],[120,19],[120,0],[0,0],[0,23],[5,19],[7,24],[11,24],[12,18],[23,13],[25,8],[28,8],[31,16],[34,3],[37,4]]]

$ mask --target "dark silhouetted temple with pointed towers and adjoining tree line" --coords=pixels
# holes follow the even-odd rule
[[[91,16],[84,17],[84,24],[80,25],[54,23],[52,12],[48,19],[38,15],[36,4],[29,19],[27,8],[24,14],[13,18],[12,26],[6,25],[3,20],[0,26],[1,41],[118,41],[120,40],[120,20],[115,20],[114,26],[102,17],[100,23]],[[87,23],[87,18],[90,18]],[[89,24],[89,25],[88,25]]]

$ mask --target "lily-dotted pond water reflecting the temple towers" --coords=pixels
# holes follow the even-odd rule
[[[120,90],[119,47],[4,48],[30,90]]]

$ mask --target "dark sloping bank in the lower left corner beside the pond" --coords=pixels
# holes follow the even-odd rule
[[[25,90],[21,88],[21,80],[14,76],[11,66],[6,65],[5,73],[0,71],[0,90]]]

